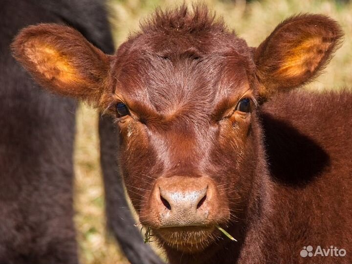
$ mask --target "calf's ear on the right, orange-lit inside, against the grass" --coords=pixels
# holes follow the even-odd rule
[[[254,52],[260,95],[268,98],[311,81],[342,37],[338,23],[323,15],[299,15],[280,23]]]

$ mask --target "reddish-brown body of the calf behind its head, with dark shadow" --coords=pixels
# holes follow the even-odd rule
[[[351,102],[351,90],[299,91],[264,105],[271,205],[248,242],[261,241],[257,252],[268,263],[351,261]],[[318,246],[342,248],[347,254],[301,258],[308,245],[314,251]],[[246,259],[245,254],[242,257]]]

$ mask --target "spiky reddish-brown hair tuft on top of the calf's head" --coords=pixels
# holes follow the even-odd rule
[[[141,22],[142,33],[194,34],[205,32],[227,32],[222,17],[205,4],[193,4],[192,10],[184,3],[174,9],[157,8],[154,14]]]

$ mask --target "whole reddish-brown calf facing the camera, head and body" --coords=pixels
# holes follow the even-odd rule
[[[114,56],[56,24],[12,47],[38,83],[115,116],[128,193],[171,263],[349,263],[352,94],[290,91],[342,36],[299,15],[250,48],[205,7],[182,6]],[[310,257],[319,247],[329,256]]]

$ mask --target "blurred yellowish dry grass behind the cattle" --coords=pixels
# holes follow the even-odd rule
[[[175,0],[110,0],[110,21],[116,46],[140,19],[156,6],[176,6]],[[191,1],[186,0],[186,3]],[[352,84],[352,1],[332,0],[205,0],[230,29],[257,46],[285,18],[297,13],[322,13],[337,20],[345,31],[345,41],[330,65],[308,89],[338,89]],[[329,106],[322,106],[329,107]],[[80,259],[84,264],[128,263],[105,230],[104,191],[99,165],[98,114],[81,105],[77,112],[75,150],[75,223],[78,230]]]

